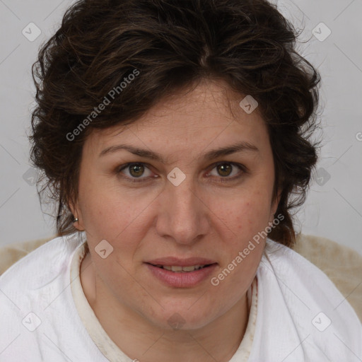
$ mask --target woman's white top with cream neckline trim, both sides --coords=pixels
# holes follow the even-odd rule
[[[132,362],[83,293],[81,236],[54,238],[0,276],[0,362]],[[353,308],[290,248],[267,240],[247,296],[247,330],[230,362],[361,361],[362,325]]]

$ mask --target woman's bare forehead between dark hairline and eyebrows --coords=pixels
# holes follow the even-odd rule
[[[223,81],[202,81],[163,98],[132,124],[91,132],[85,147],[93,151],[134,141],[139,146],[205,148],[235,143],[240,139],[260,143],[267,136],[258,110],[247,114],[239,103],[245,95],[231,90]]]

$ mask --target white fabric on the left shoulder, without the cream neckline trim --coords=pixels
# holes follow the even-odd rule
[[[0,361],[105,361],[71,294],[78,233],[49,240],[0,276]],[[1,359],[3,358],[3,359]]]

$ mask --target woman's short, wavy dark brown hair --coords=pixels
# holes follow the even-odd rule
[[[317,162],[310,136],[320,82],[296,51],[298,35],[265,0],[81,0],[68,8],[33,64],[29,136],[30,160],[42,171],[40,200],[57,203],[58,235],[76,231],[69,202],[92,129],[130,124],[166,95],[217,78],[259,103],[274,156],[274,197],[282,190],[276,214],[284,216],[268,236],[291,247],[291,210],[305,202]],[[112,89],[111,104],[90,119]]]

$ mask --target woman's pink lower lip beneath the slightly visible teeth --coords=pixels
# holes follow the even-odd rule
[[[146,263],[147,264],[147,263]],[[147,264],[148,269],[153,276],[168,286],[177,288],[187,288],[196,286],[201,281],[204,281],[217,267],[217,264],[211,264],[209,267],[194,271],[170,271],[163,268],[155,267],[152,264]]]

